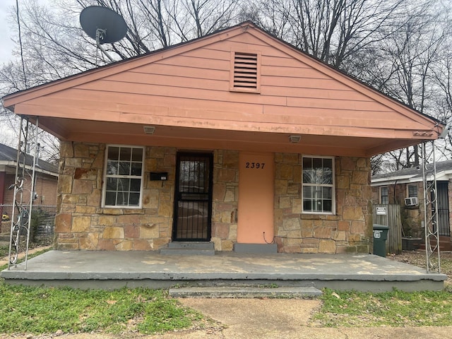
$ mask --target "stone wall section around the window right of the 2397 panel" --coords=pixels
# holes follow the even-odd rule
[[[335,159],[336,215],[302,214],[302,155],[275,154],[275,242],[286,253],[369,253],[370,159]]]

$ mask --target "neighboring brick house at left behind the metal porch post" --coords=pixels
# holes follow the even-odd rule
[[[23,155],[20,156],[20,174],[24,163]],[[23,201],[30,202],[32,181],[32,155],[25,156],[25,184],[23,189]],[[8,189],[16,179],[17,150],[0,143],[0,205],[13,203],[14,190]],[[35,194],[37,205],[57,205],[58,166],[44,160],[37,160],[35,165]]]

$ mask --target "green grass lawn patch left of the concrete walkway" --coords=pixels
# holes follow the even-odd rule
[[[163,333],[203,327],[203,315],[167,292],[76,290],[0,283],[0,333]]]

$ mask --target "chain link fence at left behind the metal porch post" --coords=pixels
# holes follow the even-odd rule
[[[30,223],[30,247],[52,244],[56,213],[57,206],[33,206]],[[9,247],[13,205],[0,205],[0,215],[0,247]]]

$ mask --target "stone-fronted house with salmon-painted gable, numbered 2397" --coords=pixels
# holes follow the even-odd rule
[[[4,106],[61,139],[64,250],[369,253],[371,155],[444,129],[253,23]]]

